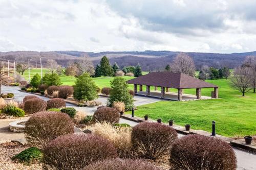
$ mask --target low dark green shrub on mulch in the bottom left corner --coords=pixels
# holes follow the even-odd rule
[[[33,161],[41,161],[42,155],[41,150],[36,147],[31,147],[12,157],[12,160],[30,164]]]

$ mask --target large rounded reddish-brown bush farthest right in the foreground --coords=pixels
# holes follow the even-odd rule
[[[170,150],[171,169],[235,170],[236,154],[221,139],[188,135],[177,140]]]

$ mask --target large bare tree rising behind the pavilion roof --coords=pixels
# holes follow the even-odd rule
[[[179,53],[173,61],[172,71],[181,72],[189,76],[195,76],[195,64],[191,57],[185,53]]]

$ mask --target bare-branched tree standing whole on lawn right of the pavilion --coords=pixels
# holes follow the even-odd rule
[[[247,67],[237,67],[231,77],[232,86],[242,92],[242,95],[251,89],[251,73]]]

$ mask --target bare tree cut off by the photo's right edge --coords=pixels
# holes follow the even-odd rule
[[[251,73],[251,86],[253,88],[253,92],[255,93],[256,89],[256,57],[255,56],[247,56],[243,63],[244,67],[248,67]]]

